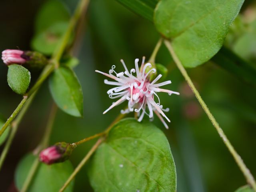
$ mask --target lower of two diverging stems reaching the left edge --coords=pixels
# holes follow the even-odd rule
[[[8,140],[4,146],[4,150],[2,151],[1,157],[0,157],[0,169],[2,167],[2,164],[6,158],[6,155],[8,153],[8,150],[12,144],[12,140],[14,139],[14,136],[17,132],[18,126],[23,118],[23,116],[25,115],[26,111],[28,110],[30,104],[32,103],[32,100],[34,99],[34,97],[36,96],[36,92],[34,92],[34,94],[32,94],[30,96],[30,98],[28,99],[28,101],[26,102],[26,104],[24,105],[24,107],[22,108],[22,110],[20,111],[20,113],[18,114],[17,118],[14,120],[14,122],[12,122],[12,127],[11,127],[11,132],[10,132],[10,136],[8,137]]]

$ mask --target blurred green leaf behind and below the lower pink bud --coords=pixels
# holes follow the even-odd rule
[[[15,184],[18,190],[22,189],[28,172],[30,171],[30,168],[36,158],[37,157],[35,157],[33,154],[28,154],[18,164],[15,171]],[[40,162],[27,192],[59,191],[73,171],[74,168],[69,160],[52,165],[46,165]],[[73,187],[74,181],[68,185],[65,192],[72,192]]]

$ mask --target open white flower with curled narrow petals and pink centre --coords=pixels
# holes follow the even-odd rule
[[[166,122],[164,122],[164,119],[162,118],[162,116],[164,116],[168,120],[168,122],[170,122],[170,120],[164,114],[164,112],[169,111],[169,108],[163,109],[163,106],[160,105],[160,99],[156,94],[156,92],[166,92],[169,95],[171,95],[172,93],[179,95],[179,93],[171,90],[159,88],[160,86],[164,86],[172,83],[171,81],[155,84],[162,77],[161,74],[158,75],[155,78],[155,80],[150,82],[147,76],[150,72],[155,73],[156,69],[152,68],[146,74],[145,73],[146,68],[147,67],[151,68],[152,65],[150,63],[147,63],[144,65],[145,57],[143,57],[141,70],[139,70],[138,61],[139,59],[135,59],[135,69],[130,70],[130,72],[128,71],[123,60],[121,60],[121,62],[125,69],[124,72],[116,73],[114,71],[114,68],[116,68],[116,66],[114,65],[112,66],[112,69],[109,70],[109,74],[96,70],[96,72],[104,74],[105,76],[108,76],[109,78],[112,78],[117,81],[117,82],[112,82],[105,79],[104,83],[108,85],[117,86],[115,88],[108,90],[107,93],[110,98],[112,99],[120,98],[118,101],[114,102],[106,111],[104,111],[103,114],[108,112],[114,106],[117,106],[118,104],[124,102],[125,100],[128,100],[128,109],[121,110],[122,114],[135,111],[138,113],[138,117],[139,117],[138,121],[140,122],[144,117],[144,114],[147,114],[150,118],[153,118],[153,112],[155,112],[155,114],[163,122],[164,126],[168,129],[168,126]],[[116,76],[112,74],[113,72],[116,74]],[[136,72],[136,76],[132,75],[132,73],[135,73],[135,72]],[[158,103],[154,101],[154,96],[158,98]],[[146,107],[148,107],[149,114],[146,112]],[[159,113],[162,114],[162,116]]]

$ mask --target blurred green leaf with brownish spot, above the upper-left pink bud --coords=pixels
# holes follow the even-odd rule
[[[52,54],[67,28],[68,22],[52,24],[49,28],[32,38],[32,48],[46,55]]]

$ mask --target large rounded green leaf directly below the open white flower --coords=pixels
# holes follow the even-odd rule
[[[88,166],[97,192],[176,192],[176,168],[167,138],[154,124],[118,122]]]

